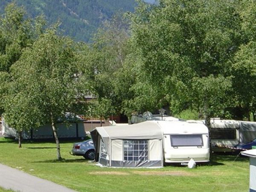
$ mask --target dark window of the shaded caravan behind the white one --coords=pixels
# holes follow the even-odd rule
[[[212,140],[235,140],[236,128],[212,128],[210,136]]]

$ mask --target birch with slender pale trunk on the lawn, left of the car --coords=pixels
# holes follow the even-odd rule
[[[76,104],[75,55],[73,41],[48,29],[11,67],[10,85],[16,87],[7,96],[6,105],[10,111],[21,105],[20,120],[30,122],[30,126],[52,125],[58,160],[61,153],[56,123]],[[17,102],[11,103],[15,99]]]

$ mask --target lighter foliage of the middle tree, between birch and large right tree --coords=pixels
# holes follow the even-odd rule
[[[126,81],[131,80],[131,76],[123,73],[127,69],[126,61],[131,52],[128,26],[128,20],[121,14],[114,15],[98,30],[91,48],[87,49],[79,59],[82,66],[81,78],[89,80],[93,94],[99,100],[99,106],[106,107],[106,109],[102,108],[104,114],[107,114],[109,107],[101,105],[102,101],[107,99],[116,113],[119,113],[122,108],[121,103],[128,94],[127,89],[130,84]],[[127,89],[124,90],[125,88]],[[96,111],[99,116],[101,110]]]

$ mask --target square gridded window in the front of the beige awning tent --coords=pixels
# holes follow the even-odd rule
[[[125,161],[147,161],[148,140],[124,140]]]

